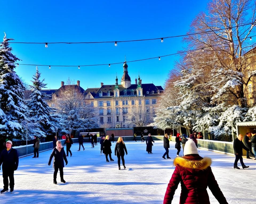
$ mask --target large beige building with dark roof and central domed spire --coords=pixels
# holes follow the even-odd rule
[[[120,128],[121,126],[127,126],[127,113],[132,107],[145,107],[150,117],[153,118],[159,94],[163,91],[161,86],[155,86],[153,83],[143,84],[140,77],[135,79],[134,82],[134,84],[131,84],[128,65],[125,61],[121,84],[118,84],[118,78],[116,77],[115,84],[104,85],[101,83],[99,88],[87,88],[84,90],[80,87],[80,81],[77,81],[77,84],[72,86],[78,86],[77,88],[85,94],[86,100],[96,109],[99,123],[107,123],[109,128]],[[64,86],[64,82],[61,82],[61,86]],[[52,94],[51,100],[47,101],[50,106],[57,95],[58,90]]]

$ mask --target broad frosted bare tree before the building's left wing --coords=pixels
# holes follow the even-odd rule
[[[54,105],[57,113],[62,118],[63,130],[82,130],[98,128],[98,120],[94,107],[85,99],[79,87],[74,85],[70,79],[57,91]]]

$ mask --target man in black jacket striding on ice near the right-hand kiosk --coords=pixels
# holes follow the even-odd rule
[[[243,169],[248,168],[249,166],[246,166],[243,163],[243,149],[245,149],[246,151],[249,151],[249,149],[243,144],[242,142],[243,140],[243,136],[240,134],[238,135],[238,137],[234,140],[234,152],[235,152],[235,163],[234,163],[234,169],[240,169],[237,166],[237,162],[238,160],[240,160],[240,163],[242,164]]]

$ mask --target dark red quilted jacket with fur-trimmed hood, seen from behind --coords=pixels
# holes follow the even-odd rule
[[[221,204],[227,204],[211,171],[211,159],[199,155],[187,155],[174,159],[176,166],[167,186],[164,204],[171,203],[178,184],[181,183],[180,204],[210,204],[207,186]]]

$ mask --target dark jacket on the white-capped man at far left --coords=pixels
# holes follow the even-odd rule
[[[9,154],[7,149],[2,150],[2,154],[0,155],[0,167],[1,165],[2,165],[2,169],[5,171],[17,170],[19,165],[19,156],[18,156],[17,150],[14,148],[11,148]]]

